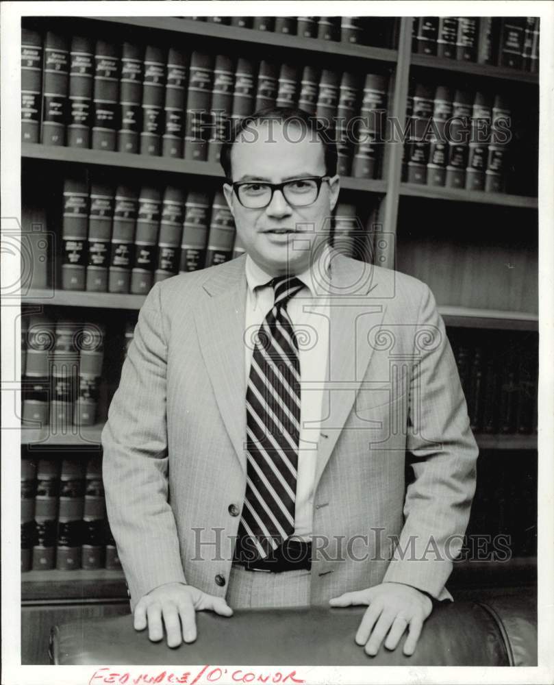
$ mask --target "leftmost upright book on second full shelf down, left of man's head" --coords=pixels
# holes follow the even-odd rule
[[[88,227],[88,187],[84,177],[64,181],[62,217],[62,288],[85,290]]]

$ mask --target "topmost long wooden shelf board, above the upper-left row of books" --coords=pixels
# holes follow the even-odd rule
[[[336,40],[318,40],[317,38],[304,38],[303,36],[287,36],[270,31],[257,29],[245,29],[237,26],[194,21],[171,16],[142,17],[142,16],[90,16],[89,19],[108,23],[123,24],[138,29],[156,29],[162,32],[188,34],[189,36],[203,36],[205,38],[218,38],[242,42],[249,45],[264,47],[277,47],[295,49],[315,55],[329,55],[335,57],[350,57],[357,60],[370,60],[372,62],[390,62],[394,64],[398,58],[398,52],[381,47],[368,45],[351,45]],[[234,48],[235,50],[236,48]]]

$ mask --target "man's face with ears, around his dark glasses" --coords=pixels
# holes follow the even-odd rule
[[[281,183],[308,176],[325,176],[323,143],[299,125],[277,121],[251,125],[231,149],[234,182]],[[294,207],[280,190],[268,206],[249,209],[240,203],[232,186],[223,186],[240,240],[251,258],[268,273],[301,273],[310,264],[311,248],[338,199],[339,179],[321,184],[318,198],[305,207]],[[318,241],[320,242],[320,241]]]

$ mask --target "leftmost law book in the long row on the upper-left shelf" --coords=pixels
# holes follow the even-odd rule
[[[40,140],[42,93],[42,36],[21,29],[21,140]]]

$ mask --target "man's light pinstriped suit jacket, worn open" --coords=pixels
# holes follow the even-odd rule
[[[102,434],[131,608],[167,582],[226,593],[246,488],[244,260],[160,282],[140,310]],[[338,253],[327,286],[311,601],[383,581],[451,599],[478,450],[433,295]]]

